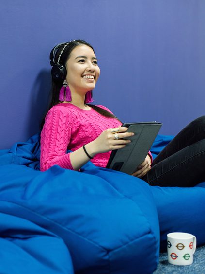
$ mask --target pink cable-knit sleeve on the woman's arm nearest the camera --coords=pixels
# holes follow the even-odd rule
[[[70,162],[70,153],[66,154],[71,124],[72,118],[64,107],[54,106],[48,111],[41,132],[41,171],[46,171],[54,164],[74,170]]]

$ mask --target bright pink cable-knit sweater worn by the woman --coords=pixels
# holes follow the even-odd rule
[[[98,107],[112,113],[104,106]],[[102,131],[121,125],[117,119],[105,117],[92,108],[82,110],[70,103],[55,105],[48,111],[41,132],[40,170],[45,171],[54,164],[73,170],[67,149],[75,151],[95,140]],[[106,167],[110,153],[98,153],[91,162]]]

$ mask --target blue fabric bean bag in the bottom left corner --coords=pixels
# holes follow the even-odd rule
[[[74,274],[63,240],[15,212],[0,213],[0,235],[0,273]]]

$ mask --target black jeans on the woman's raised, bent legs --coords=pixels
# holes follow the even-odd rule
[[[184,128],[142,178],[150,185],[190,187],[205,181],[205,116]]]

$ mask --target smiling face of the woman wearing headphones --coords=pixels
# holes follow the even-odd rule
[[[89,46],[75,47],[70,53],[66,69],[66,80],[72,91],[84,93],[95,88],[100,69],[95,53]]]

